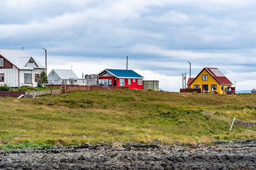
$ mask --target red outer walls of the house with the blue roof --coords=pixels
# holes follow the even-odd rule
[[[114,78],[116,79],[116,86],[120,86],[119,78],[116,78],[116,77],[99,77],[99,79],[112,79],[112,86],[114,86]],[[124,79],[124,86],[128,86],[129,89],[143,89],[143,81],[142,81],[142,85],[138,85],[138,79],[135,79],[135,82],[133,82],[133,79],[131,79],[131,84],[128,85],[128,79]]]

